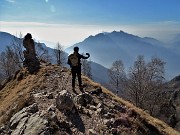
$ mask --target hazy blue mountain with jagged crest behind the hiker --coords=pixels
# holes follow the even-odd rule
[[[157,56],[166,62],[168,77],[172,78],[180,74],[180,55],[154,38],[141,38],[123,31],[113,31],[89,36],[84,41],[67,48],[66,52],[72,51],[74,46],[79,46],[81,52],[89,52],[92,61],[107,68],[118,59],[123,61],[126,68],[129,68],[138,55],[143,55],[146,60]]]

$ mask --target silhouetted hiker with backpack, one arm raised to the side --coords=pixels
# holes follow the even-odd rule
[[[68,56],[68,64],[71,67],[71,73],[72,73],[72,90],[75,91],[75,80],[76,80],[76,74],[78,77],[78,83],[79,88],[82,91],[82,80],[81,80],[81,58],[82,59],[88,59],[90,57],[89,53],[86,53],[87,56],[83,56],[78,53],[79,47],[74,47],[74,53],[70,54]]]

